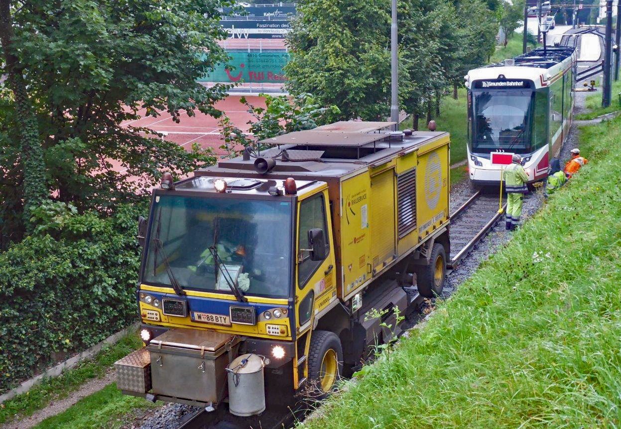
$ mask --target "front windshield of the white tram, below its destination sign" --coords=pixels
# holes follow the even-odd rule
[[[473,153],[531,151],[533,91],[473,91]]]

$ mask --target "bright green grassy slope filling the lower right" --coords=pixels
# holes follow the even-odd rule
[[[589,165],[308,429],[619,428],[621,118]]]

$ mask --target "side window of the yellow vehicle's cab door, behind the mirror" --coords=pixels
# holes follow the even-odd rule
[[[325,253],[328,255],[330,251],[330,238],[328,237],[324,194],[319,194],[302,201],[300,204],[299,219],[298,250],[308,249],[310,246],[308,238],[309,230],[320,228],[324,231]],[[311,253],[308,251],[300,252],[299,255],[301,261],[298,261],[297,264],[297,284],[302,288],[323,261],[312,261]]]

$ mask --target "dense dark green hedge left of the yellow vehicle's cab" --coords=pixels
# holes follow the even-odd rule
[[[0,253],[0,394],[136,319],[142,205],[77,214],[52,203],[35,211],[30,237]]]

